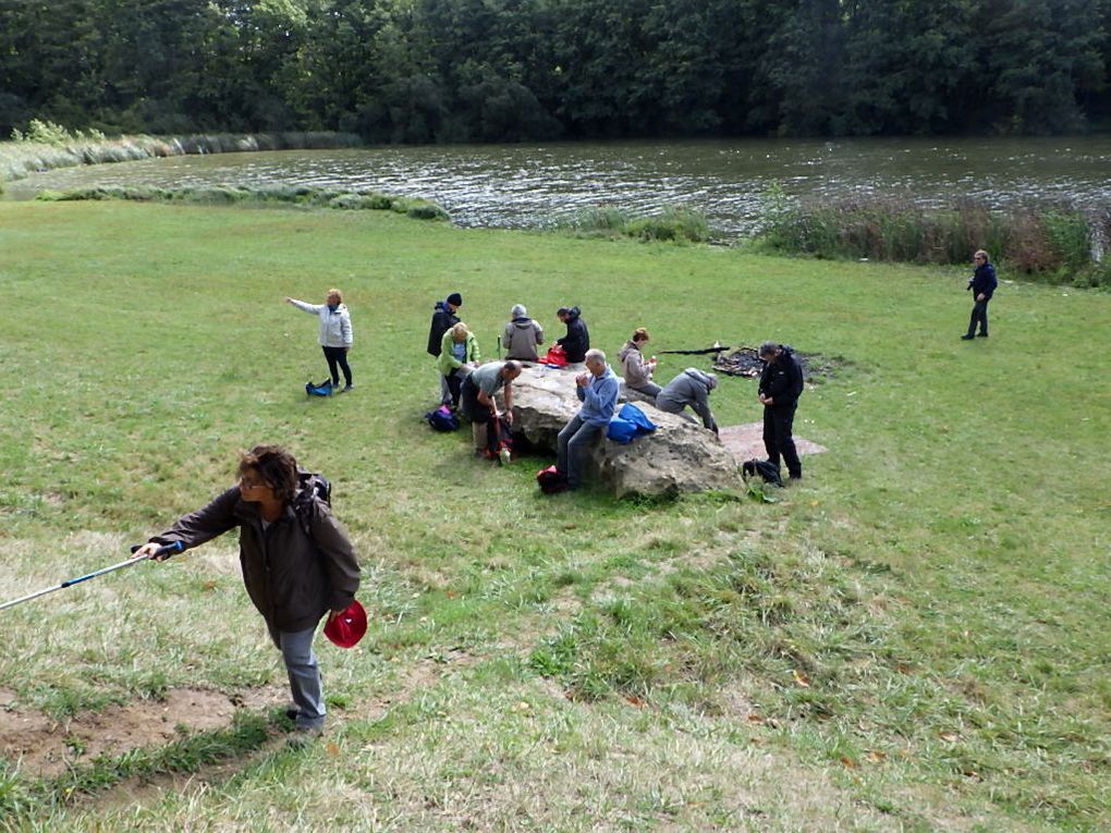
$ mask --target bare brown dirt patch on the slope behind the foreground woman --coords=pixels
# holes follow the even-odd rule
[[[178,689],[164,700],[113,705],[53,721],[39,712],[0,710],[0,757],[29,775],[53,777],[99,755],[164,745],[231,723],[236,704],[226,694]]]

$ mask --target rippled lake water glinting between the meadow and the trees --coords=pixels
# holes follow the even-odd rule
[[[565,142],[281,151],[70,168],[9,195],[90,184],[286,183],[427,197],[460,225],[530,227],[582,209],[703,212],[724,237],[758,222],[772,182],[797,197],[1111,205],[1111,137]]]

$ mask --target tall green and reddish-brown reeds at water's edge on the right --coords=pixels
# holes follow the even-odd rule
[[[1092,257],[1090,215],[1075,209],[930,209],[895,200],[792,205],[773,187],[763,219],[758,240],[780,253],[964,265],[985,249],[1012,273],[1108,285],[1107,269]]]

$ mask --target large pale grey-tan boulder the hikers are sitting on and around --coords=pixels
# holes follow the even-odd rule
[[[554,456],[559,432],[579,412],[574,378],[581,372],[581,367],[527,365],[513,382],[514,431]],[[632,392],[630,399],[638,399],[637,407],[659,428],[628,445],[599,439],[590,454],[588,478],[600,480],[618,498],[741,485],[737,461],[713,432],[659,411]]]

